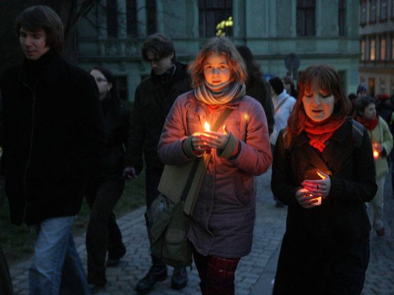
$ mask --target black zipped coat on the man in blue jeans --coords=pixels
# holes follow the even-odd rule
[[[49,50],[8,69],[0,89],[11,221],[32,225],[77,214],[87,172],[105,145],[95,80]]]

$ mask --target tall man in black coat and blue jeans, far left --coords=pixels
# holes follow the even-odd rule
[[[16,29],[26,59],[0,79],[1,169],[11,221],[37,230],[30,294],[90,294],[71,225],[105,144],[98,89],[60,57],[63,25],[51,8],[26,9]]]

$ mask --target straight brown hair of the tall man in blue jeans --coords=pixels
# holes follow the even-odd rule
[[[34,5],[25,9],[15,20],[16,33],[20,29],[36,32],[43,29],[45,32],[46,46],[62,53],[65,44],[62,20],[56,12],[45,5]]]

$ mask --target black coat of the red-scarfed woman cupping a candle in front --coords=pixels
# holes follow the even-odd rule
[[[309,145],[304,131],[289,149],[284,145],[283,130],[278,136],[271,189],[275,197],[288,205],[286,233],[275,279],[284,290],[286,282],[308,278],[309,283],[302,287],[304,291],[318,280],[324,289],[329,281],[330,258],[335,256],[335,251],[344,245],[368,241],[371,226],[364,202],[375,196],[377,185],[371,143],[366,129],[362,130],[361,146],[357,147],[352,119],[347,118],[322,153]],[[303,179],[320,179],[317,169],[330,176],[330,192],[321,206],[304,209],[296,201],[296,191],[302,187]],[[367,266],[368,255],[364,260],[359,263]],[[318,279],[314,280],[314,276]],[[323,289],[312,294],[325,294],[327,290]]]

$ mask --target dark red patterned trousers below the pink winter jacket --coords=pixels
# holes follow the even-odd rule
[[[239,258],[203,256],[193,250],[202,295],[234,295],[234,272]]]

